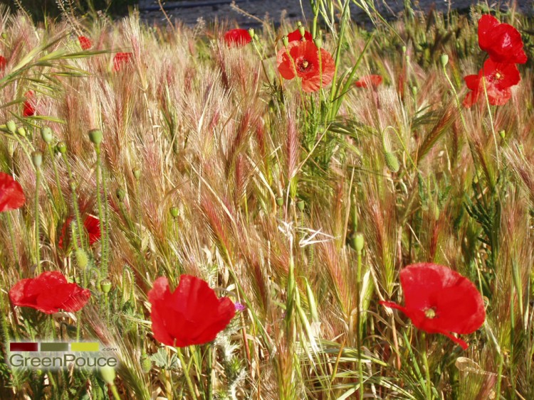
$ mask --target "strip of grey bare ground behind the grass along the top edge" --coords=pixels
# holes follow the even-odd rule
[[[450,4],[449,4],[450,2]],[[468,11],[476,0],[419,0],[412,1],[414,9],[427,11],[434,6],[439,11],[447,11],[449,6],[460,11]],[[237,0],[232,6],[229,0],[186,0],[186,1],[166,1],[165,7],[171,18],[179,18],[188,25],[195,25],[199,18],[204,18],[206,22],[219,20],[236,21],[236,25],[241,28],[258,26],[260,22],[268,16],[275,23],[281,18],[305,21],[312,15],[310,2],[302,0],[302,8],[299,0]],[[493,1],[490,1],[493,3]],[[501,1],[506,3],[506,1]],[[517,0],[518,6],[523,11],[532,11],[533,0]],[[404,0],[375,0],[377,10],[386,18],[393,18],[404,9]],[[157,0],[140,0],[140,11],[145,21],[162,21],[162,12],[158,11]],[[242,11],[236,8],[239,7]],[[506,6],[504,6],[506,9]],[[248,15],[247,15],[248,14]],[[358,9],[355,4],[351,5],[352,18],[355,21],[365,22],[365,12]],[[254,18],[256,17],[256,18]]]

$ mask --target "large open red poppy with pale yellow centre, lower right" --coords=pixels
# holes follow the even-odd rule
[[[465,350],[467,343],[451,332],[473,333],[486,319],[482,296],[473,283],[446,266],[430,263],[407,266],[400,281],[404,307],[390,301],[380,304],[401,310],[417,328],[446,335]]]

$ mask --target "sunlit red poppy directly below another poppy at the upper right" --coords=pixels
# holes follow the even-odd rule
[[[484,78],[484,82],[482,78]],[[520,80],[519,70],[515,64],[495,63],[490,58],[486,60],[483,69],[478,72],[478,75],[464,77],[466,86],[472,90],[472,92],[466,94],[464,107],[471,107],[478,102],[478,99],[484,94],[484,84],[486,84],[488,101],[491,105],[501,106],[506,104],[512,97],[510,87],[517,85]]]

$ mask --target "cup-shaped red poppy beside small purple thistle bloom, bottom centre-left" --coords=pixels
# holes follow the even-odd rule
[[[148,292],[152,304],[152,332],[159,342],[168,346],[202,345],[214,340],[226,328],[236,307],[227,298],[217,298],[202,279],[180,276],[173,293],[167,278],[160,277]]]

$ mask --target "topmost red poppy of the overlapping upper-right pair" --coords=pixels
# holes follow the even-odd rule
[[[496,63],[527,62],[518,30],[508,23],[499,23],[497,18],[489,14],[478,20],[478,45]]]

